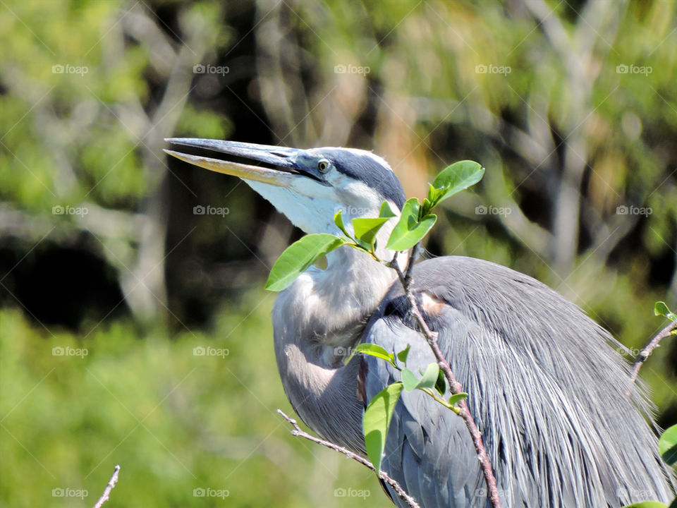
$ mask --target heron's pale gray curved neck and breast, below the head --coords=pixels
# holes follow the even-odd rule
[[[396,274],[347,246],[327,258],[326,270],[310,268],[275,303],[277,365],[303,421],[328,440],[363,452],[359,358],[343,366],[343,357],[359,341]]]

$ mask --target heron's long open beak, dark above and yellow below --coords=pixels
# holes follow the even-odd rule
[[[164,150],[169,155],[195,164],[217,173],[238,176],[245,180],[255,180],[272,185],[289,187],[300,176],[295,168],[295,155],[300,151],[296,148],[276,147],[269,145],[255,145],[254,143],[240,143],[238,141],[222,141],[199,138],[166,138],[165,141],[173,145],[183,145],[196,148],[205,148],[226,155],[250,159],[267,164],[267,167],[228,162],[212,157],[188,155],[174,150]]]

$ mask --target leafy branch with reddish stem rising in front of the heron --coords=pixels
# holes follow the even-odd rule
[[[351,221],[352,234],[348,231],[346,224],[344,224],[341,211],[339,210],[334,215],[334,224],[336,224],[336,227],[344,236],[309,234],[293,243],[275,262],[269,274],[266,289],[270,291],[282,291],[286,289],[315,261],[341,246],[350,246],[361,250],[370,255],[373,260],[395,270],[403,286],[409,312],[415,318],[425,340],[432,349],[436,362],[427,365],[425,372],[422,371],[420,373],[421,377],[418,377],[412,370],[406,367],[406,359],[410,346],[407,346],[406,349],[398,353],[389,353],[378,344],[359,344],[353,352],[353,354],[361,353],[381,358],[401,373],[401,381],[391,383],[391,385],[385,387],[381,392],[372,397],[365,410],[362,423],[365,433],[365,449],[367,457],[371,461],[370,465],[373,465],[372,469],[381,478],[384,478],[385,473],[381,470],[382,456],[395,406],[403,390],[411,392],[418,389],[463,418],[472,437],[472,442],[475,445],[477,457],[480,460],[482,474],[487,483],[489,500],[493,507],[500,507],[501,501],[496,489],[496,478],[494,478],[492,465],[484,449],[480,431],[477,429],[477,425],[475,425],[475,421],[468,410],[468,404],[465,402],[468,394],[463,392],[463,387],[454,377],[449,363],[447,363],[437,344],[437,334],[429,329],[411,291],[412,270],[420,250],[420,241],[422,241],[422,238],[425,237],[435,222],[437,222],[437,215],[433,214],[432,211],[442,201],[480,181],[483,175],[484,168],[480,164],[477,164],[477,162],[457,162],[444,169],[434,179],[429,186],[427,198],[423,202],[420,202],[417,198],[407,200],[386,243],[387,250],[395,251],[392,260],[383,260],[377,254],[377,236],[379,231],[386,222],[396,217],[396,214],[391,210],[387,202],[382,204],[379,210],[379,217],[358,217],[353,219]],[[406,270],[402,272],[397,262],[398,253],[412,248],[413,252],[408,258]],[[346,362],[350,361],[352,356],[350,355]],[[404,364],[403,367],[400,365],[400,362]],[[444,398],[447,384],[451,392],[449,399]]]

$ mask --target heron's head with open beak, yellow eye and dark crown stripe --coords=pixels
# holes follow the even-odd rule
[[[167,141],[218,152],[219,158],[213,158],[165,150],[190,164],[238,176],[306,233],[336,234],[333,218],[338,210],[349,224],[355,217],[378,217],[384,201],[395,211],[405,202],[402,186],[388,163],[365,150],[298,150],[193,138]]]

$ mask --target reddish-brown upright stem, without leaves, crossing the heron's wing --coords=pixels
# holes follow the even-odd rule
[[[413,261],[419,249],[420,243],[417,243],[413,248],[412,255],[409,258],[409,262],[405,273],[403,273],[402,270],[400,269],[399,265],[396,262],[396,258],[394,258],[393,260],[394,262],[392,262],[390,265],[397,272],[400,282],[402,283],[403,289],[405,291],[405,296],[409,303],[410,313],[415,318],[419,328],[421,329],[423,336],[425,337],[425,340],[427,341],[428,345],[430,346],[430,349],[432,349],[432,352],[434,353],[435,359],[437,360],[437,365],[439,365],[439,368],[444,373],[444,377],[446,377],[446,381],[449,383],[449,391],[451,391],[452,394],[463,393],[463,387],[461,386],[461,383],[458,382],[458,380],[456,380],[456,376],[453,375],[451,367],[449,367],[449,363],[446,361],[446,358],[444,358],[442,351],[439,349],[439,345],[437,344],[437,333],[429,329],[427,323],[423,319],[421,311],[418,308],[416,299],[413,293],[410,291],[412,280],[411,271],[414,264]],[[468,409],[468,404],[465,402],[465,400],[461,400],[460,402],[458,402],[458,406],[460,409],[460,411],[458,412],[458,416],[461,416],[461,418],[463,418],[463,421],[465,421],[465,426],[468,428],[470,437],[472,437],[472,444],[475,444],[475,452],[477,452],[477,458],[480,459],[480,465],[482,466],[482,474],[484,475],[484,481],[487,483],[487,491],[489,492],[489,500],[492,502],[492,507],[500,508],[501,498],[499,497],[499,490],[498,488],[496,488],[496,477],[494,476],[494,470],[492,468],[491,461],[489,461],[487,450],[484,448],[484,443],[482,442],[482,435],[480,434],[480,430],[477,428],[475,420],[472,418],[470,410]]]

